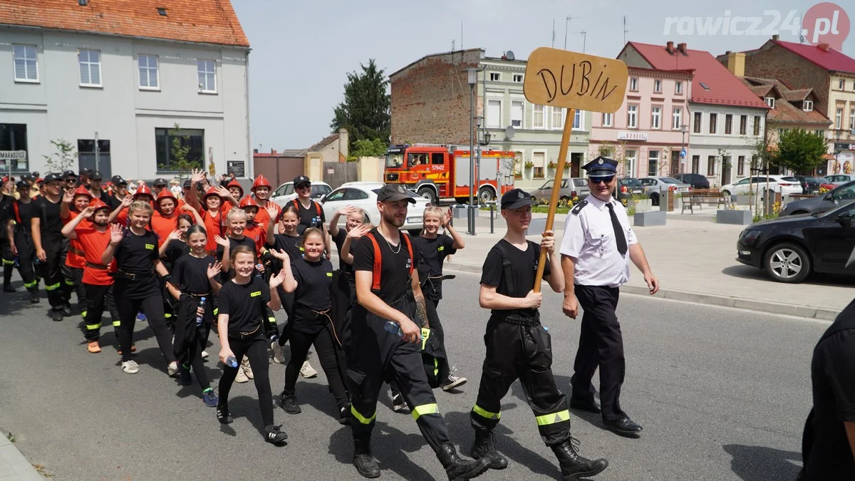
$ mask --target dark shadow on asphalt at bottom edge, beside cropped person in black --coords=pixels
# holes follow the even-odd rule
[[[795,479],[801,471],[801,453],[740,444],[725,444],[722,448],[734,457],[730,461],[731,471],[744,481]]]

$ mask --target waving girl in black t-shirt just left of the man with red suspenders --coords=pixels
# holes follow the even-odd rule
[[[294,317],[291,321],[291,359],[285,370],[285,389],[280,400],[286,413],[301,412],[295,398],[295,384],[301,366],[314,344],[321,367],[327,374],[329,388],[339,407],[339,422],[350,419],[350,402],[342,381],[338,336],[329,317],[333,285],[333,264],[323,256],[324,241],[321,229],[310,228],[303,233],[303,258],[289,259],[284,252],[276,252],[285,264],[285,281],[282,288],[294,293]],[[290,261],[290,262],[289,262]]]

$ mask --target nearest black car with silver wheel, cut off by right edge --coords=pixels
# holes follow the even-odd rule
[[[855,274],[846,269],[855,248],[853,216],[855,204],[753,223],[736,242],[736,260],[766,270],[777,282],[802,282],[811,272]]]

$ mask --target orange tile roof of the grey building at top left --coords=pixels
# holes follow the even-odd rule
[[[0,0],[0,25],[250,46],[229,0]]]

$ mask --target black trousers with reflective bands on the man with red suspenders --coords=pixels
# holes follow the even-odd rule
[[[392,302],[393,309],[412,318],[406,296]],[[355,440],[368,442],[377,418],[377,396],[385,380],[394,379],[416,425],[433,451],[449,442],[445,420],[428,384],[422,365],[421,345],[406,342],[385,329],[386,319],[363,306],[351,308],[345,318],[344,349],[347,359],[347,390],[351,393],[351,429]]]

